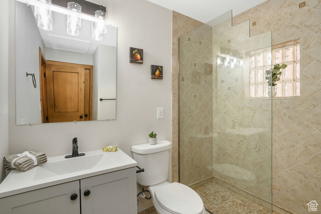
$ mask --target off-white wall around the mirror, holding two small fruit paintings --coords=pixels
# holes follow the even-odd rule
[[[159,141],[171,140],[171,11],[146,0],[91,1],[107,6],[108,24],[118,28],[117,119],[16,125],[13,66],[9,70],[10,154],[26,149],[45,152],[49,157],[70,154],[72,139],[78,137],[79,152],[117,145],[132,157],[131,146],[149,142],[148,134],[152,131],[157,133]],[[9,14],[14,14],[14,8],[9,9]],[[10,28],[9,42],[14,38],[13,26]],[[144,50],[143,64],[129,63],[129,47]],[[14,51],[10,47],[9,54],[15,56]],[[14,59],[9,61],[14,63]],[[151,79],[151,64],[163,65],[163,80]],[[157,107],[164,108],[164,119],[157,119]],[[144,206],[140,203],[138,209]]]

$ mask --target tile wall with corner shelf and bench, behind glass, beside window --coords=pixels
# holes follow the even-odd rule
[[[213,175],[271,201],[271,98],[244,98],[246,53],[270,47],[271,33],[249,37],[249,21],[213,27]],[[240,57],[244,66],[223,66],[217,56]],[[221,59],[222,59],[221,58]]]

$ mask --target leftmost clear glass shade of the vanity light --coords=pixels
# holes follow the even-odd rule
[[[39,28],[52,30],[51,0],[35,0],[35,17]]]

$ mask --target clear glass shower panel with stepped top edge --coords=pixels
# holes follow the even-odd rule
[[[272,34],[249,25],[230,11],[179,38],[179,179],[212,213],[272,212]]]

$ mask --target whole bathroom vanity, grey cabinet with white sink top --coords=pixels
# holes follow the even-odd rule
[[[10,172],[0,184],[1,213],[137,213],[137,163],[120,149],[85,153]]]

